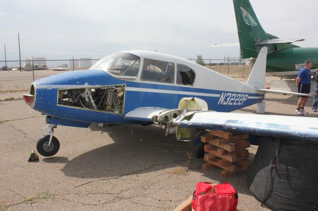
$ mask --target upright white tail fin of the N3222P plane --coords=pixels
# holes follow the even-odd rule
[[[264,89],[265,86],[265,70],[266,70],[267,48],[263,47],[255,61],[252,71],[247,79],[246,84],[256,89]]]

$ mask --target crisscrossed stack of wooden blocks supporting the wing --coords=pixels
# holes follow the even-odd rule
[[[225,131],[206,130],[208,133],[201,136],[201,142],[208,143],[204,147],[205,163],[203,170],[215,166],[223,168],[221,175],[230,176],[250,166],[248,134],[236,134]]]

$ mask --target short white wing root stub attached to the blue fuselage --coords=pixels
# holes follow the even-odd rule
[[[139,107],[126,113],[127,120],[153,122],[152,117],[158,116],[160,112],[169,110],[161,107]]]

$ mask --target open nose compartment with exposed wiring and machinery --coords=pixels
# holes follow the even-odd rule
[[[123,113],[125,86],[59,90],[58,105]]]

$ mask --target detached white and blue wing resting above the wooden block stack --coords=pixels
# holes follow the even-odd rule
[[[317,118],[201,111],[180,115],[173,124],[189,129],[212,129],[301,141],[318,141]]]

